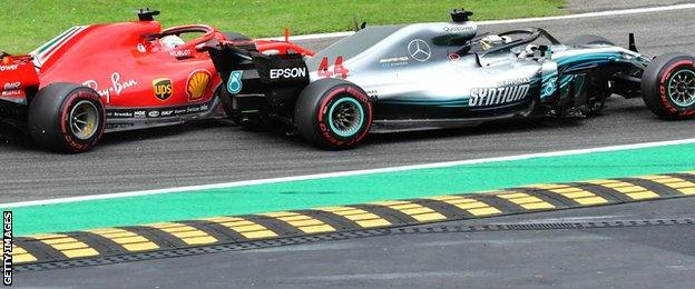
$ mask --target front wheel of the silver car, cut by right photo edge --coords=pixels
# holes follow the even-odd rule
[[[667,53],[654,59],[642,77],[642,99],[663,119],[695,117],[695,57]]]

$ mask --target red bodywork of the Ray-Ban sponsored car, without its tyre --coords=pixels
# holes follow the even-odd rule
[[[165,34],[198,38],[176,48]],[[202,34],[202,36],[200,36]],[[157,21],[74,27],[29,56],[4,56],[0,62],[0,121],[26,123],[28,104],[50,83],[89,87],[106,108],[107,131],[178,123],[219,116],[216,90],[222,82],[206,42],[226,37],[209,26],[161,30]],[[286,41],[254,40],[260,51],[313,52]]]

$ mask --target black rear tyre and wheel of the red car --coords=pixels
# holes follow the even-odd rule
[[[29,104],[29,134],[53,151],[86,152],[101,140],[105,128],[101,98],[88,87],[51,83]]]

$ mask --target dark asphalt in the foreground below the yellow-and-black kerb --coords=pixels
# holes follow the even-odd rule
[[[693,218],[695,198],[442,225]],[[18,272],[19,287],[693,288],[695,225],[415,233]]]

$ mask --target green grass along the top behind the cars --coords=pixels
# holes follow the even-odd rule
[[[464,7],[473,19],[511,19],[561,14],[564,0],[0,0],[0,50],[28,52],[75,24],[135,19],[135,8],[151,7],[164,27],[207,23],[251,37],[345,31],[352,19],[371,24],[449,21],[448,11]]]

